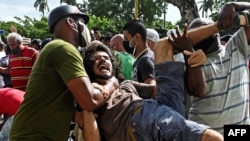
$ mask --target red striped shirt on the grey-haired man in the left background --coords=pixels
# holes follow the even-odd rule
[[[10,76],[13,88],[25,91],[31,69],[38,58],[38,51],[28,46],[20,55],[10,55]]]

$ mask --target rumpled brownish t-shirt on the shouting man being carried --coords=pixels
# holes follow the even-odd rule
[[[149,96],[153,87],[130,80],[121,83],[104,106],[99,108],[97,122],[100,131],[109,141],[130,141],[128,134],[129,120],[133,111],[143,105],[140,95]]]

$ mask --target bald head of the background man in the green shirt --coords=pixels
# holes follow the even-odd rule
[[[126,50],[123,47],[123,41],[124,41],[123,34],[116,34],[110,39],[110,46],[114,50],[126,52]]]

